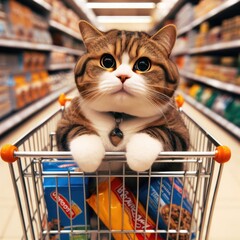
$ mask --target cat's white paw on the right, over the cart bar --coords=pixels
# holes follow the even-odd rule
[[[163,150],[161,142],[147,133],[133,135],[126,148],[128,166],[137,172],[148,170]]]

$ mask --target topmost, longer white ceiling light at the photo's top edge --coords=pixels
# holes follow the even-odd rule
[[[155,8],[154,2],[90,2],[86,3],[88,8],[92,9],[153,9]]]

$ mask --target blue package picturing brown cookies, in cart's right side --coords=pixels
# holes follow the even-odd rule
[[[169,226],[169,229],[178,230],[179,227],[179,230],[190,231],[193,207],[179,178],[153,178],[150,189],[148,189],[148,184],[140,188],[139,200],[144,206],[148,206],[149,216],[158,222],[159,229],[167,230]],[[170,233],[169,237],[180,240],[195,239],[195,233],[190,235],[191,237],[187,233],[182,233],[177,238],[176,233]],[[161,236],[166,239],[166,234]]]

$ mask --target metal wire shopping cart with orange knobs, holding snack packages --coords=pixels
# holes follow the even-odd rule
[[[64,105],[68,99],[62,95],[60,100]],[[221,146],[182,111],[190,132],[190,150],[162,152],[156,162],[173,166],[184,163],[185,170],[161,172],[150,169],[146,172],[133,172],[127,168],[124,152],[107,152],[104,171],[90,174],[69,168],[49,170],[45,167],[48,164],[73,164],[70,152],[59,152],[56,149],[54,131],[61,112],[62,110],[57,111],[19,141],[13,145],[7,144],[1,149],[2,159],[9,163],[23,231],[22,239],[208,238],[223,165],[231,155],[227,147]],[[122,164],[121,172],[111,170],[111,166],[116,163]],[[73,189],[76,189],[74,179],[80,179],[81,183],[77,188],[81,191],[77,195],[82,204],[77,207],[77,214],[81,215],[82,221],[80,227],[75,225],[77,214],[74,211],[77,204],[73,201],[76,197],[73,192]],[[54,200],[53,207],[48,204],[46,195],[48,181],[52,181],[50,192],[51,200]],[[65,182],[65,197],[61,195],[62,181]],[[117,209],[119,202],[112,188],[116,181],[121,185],[121,194],[117,197],[120,209]],[[156,185],[155,193],[152,192],[154,181],[159,184]],[[134,188],[127,186],[129,182]],[[164,205],[164,191],[169,194],[169,202],[167,211],[163,213],[160,209],[163,209]],[[177,204],[174,202],[176,192],[181,192]],[[95,203],[91,205],[90,201]],[[183,223],[186,220],[185,201],[190,207],[186,226]],[[129,208],[129,203],[135,205]],[[64,208],[68,211],[68,215],[66,212],[64,215],[68,218],[68,226],[62,225],[61,214]],[[55,213],[54,219],[49,218],[52,211]],[[101,216],[104,211],[107,214],[105,219]],[[129,225],[126,216],[132,217],[134,224],[130,224],[131,228],[126,227]],[[165,226],[162,227],[160,222]]]

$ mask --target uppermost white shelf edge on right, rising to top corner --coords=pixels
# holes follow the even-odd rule
[[[195,19],[193,22],[191,22],[189,25],[184,26],[183,28],[179,29],[178,36],[185,34],[186,32],[190,31],[191,29],[195,28],[196,26],[200,25],[206,20],[209,20],[218,14],[224,12],[225,10],[229,9],[230,7],[234,7],[236,4],[238,4],[239,0],[228,0],[226,2],[223,2],[221,5],[217,6],[216,8],[209,11],[204,16]]]

